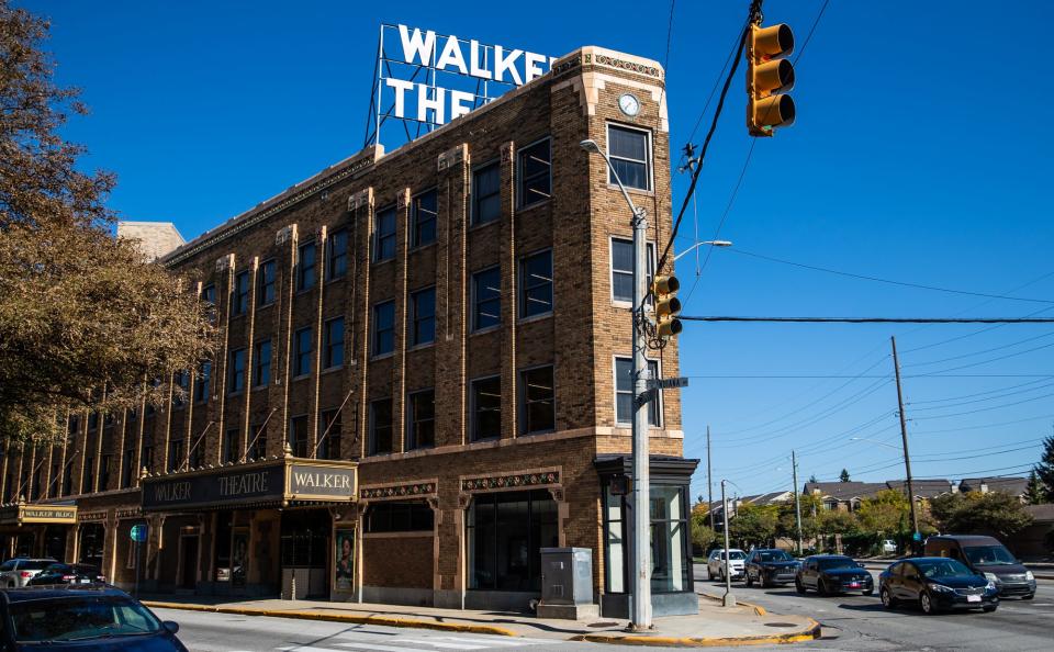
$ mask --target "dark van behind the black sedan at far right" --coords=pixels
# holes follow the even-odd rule
[[[928,557],[944,557],[966,565],[999,588],[1001,597],[1035,597],[1035,576],[994,537],[939,535],[926,540]]]

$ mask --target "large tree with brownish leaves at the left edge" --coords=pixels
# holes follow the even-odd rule
[[[83,114],[41,49],[48,24],[0,0],[0,440],[55,441],[67,411],[159,403],[211,350],[189,284],[113,237],[106,172],[61,130]],[[161,379],[155,385],[148,379]]]

